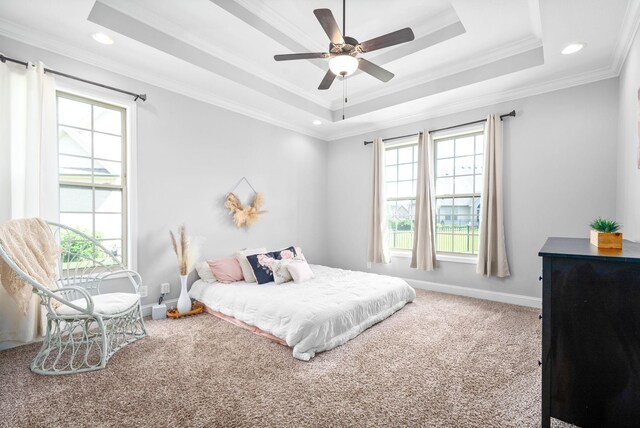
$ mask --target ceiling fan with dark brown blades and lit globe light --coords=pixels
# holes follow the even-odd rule
[[[389,46],[398,45],[400,43],[410,42],[415,38],[411,28],[403,28],[383,36],[367,40],[366,42],[358,42],[353,37],[344,36],[345,30],[345,0],[342,2],[342,32],[336,23],[331,10],[316,9],[313,11],[320,25],[329,36],[329,52],[312,52],[312,53],[294,53],[275,55],[276,61],[291,61],[296,59],[315,59],[329,58],[329,70],[325,74],[324,79],[320,82],[318,89],[329,89],[336,76],[348,76],[357,69],[372,75],[373,77],[388,82],[394,76],[388,70],[358,57],[359,54],[372,52],[378,49],[387,48]]]

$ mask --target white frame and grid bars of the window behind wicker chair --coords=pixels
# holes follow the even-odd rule
[[[56,105],[58,105],[59,98],[66,98],[73,101],[84,102],[90,104],[92,106],[97,106],[101,108],[107,108],[110,110],[119,111],[121,114],[121,182],[119,185],[115,184],[107,184],[107,183],[95,183],[93,180],[89,183],[82,182],[73,182],[73,181],[64,181],[61,180],[61,174],[58,172],[58,198],[60,200],[60,189],[63,187],[67,188],[83,188],[83,189],[92,189],[93,192],[96,190],[120,190],[122,192],[122,207],[121,207],[121,248],[122,254],[120,256],[121,263],[128,269],[136,269],[137,265],[137,255],[135,253],[135,246],[133,242],[135,237],[133,236],[134,227],[132,224],[132,220],[134,217],[134,209],[132,207],[132,201],[135,199],[132,198],[132,193],[134,193],[134,188],[132,188],[132,183],[135,183],[135,177],[132,177],[132,172],[135,171],[133,165],[135,164],[135,147],[134,147],[134,138],[135,133],[132,132],[132,128],[134,126],[135,120],[135,103],[127,103],[127,102],[118,102],[104,97],[99,93],[87,93],[87,91],[75,91],[72,88],[60,87],[56,88]],[[93,107],[92,107],[93,109]],[[89,131],[93,134],[95,131],[94,123],[93,123],[93,114],[91,117],[91,129],[79,128],[70,126],[74,129],[80,129]],[[69,125],[63,125],[59,123],[59,119],[56,118],[56,128],[59,133],[60,126],[69,127]],[[100,131],[97,131],[100,132]],[[109,133],[103,133],[106,135],[113,135]],[[59,137],[58,137],[59,138]],[[59,140],[58,147],[59,147]],[[93,135],[92,135],[92,143],[93,143]],[[61,156],[58,153],[58,159]],[[87,157],[83,157],[87,158]],[[91,157],[87,159],[91,159],[92,165],[95,159],[100,160],[101,158],[96,158],[93,153],[91,153]],[[107,159],[105,159],[107,160]],[[108,160],[107,160],[108,161]],[[93,167],[92,167],[93,169]],[[95,195],[92,199],[92,211],[90,211],[92,215],[92,225],[93,225],[93,234],[95,238]],[[62,214],[63,211],[61,207],[58,208],[58,213]]]

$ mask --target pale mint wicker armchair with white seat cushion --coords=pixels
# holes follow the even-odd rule
[[[147,335],[137,294],[142,279],[91,237],[47,223],[62,250],[53,290],[16,266],[0,245],[0,256],[33,287],[47,312],[46,335],[31,371],[61,375],[102,369],[116,351]],[[107,286],[132,292],[101,293]]]

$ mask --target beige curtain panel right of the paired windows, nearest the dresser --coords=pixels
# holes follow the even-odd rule
[[[484,188],[477,272],[484,276],[506,277],[510,273],[504,238],[502,121],[496,114],[487,117],[484,144]]]

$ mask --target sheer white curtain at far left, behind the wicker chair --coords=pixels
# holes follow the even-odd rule
[[[56,91],[44,66],[0,63],[0,223],[13,218],[58,219]],[[30,342],[45,319],[34,296],[27,311],[0,286],[1,342]]]

